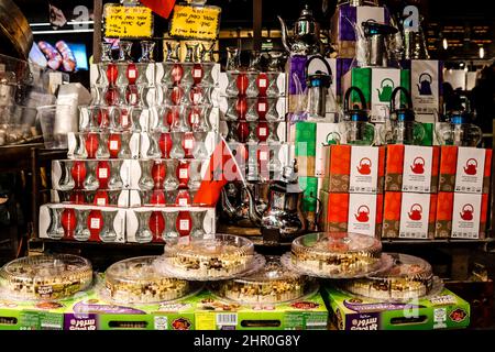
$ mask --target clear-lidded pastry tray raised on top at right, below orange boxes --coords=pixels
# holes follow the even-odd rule
[[[380,268],[382,243],[346,232],[310,233],[294,240],[290,262],[299,272],[321,277],[355,277]]]

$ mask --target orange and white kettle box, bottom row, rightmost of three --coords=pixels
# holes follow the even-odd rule
[[[439,193],[435,237],[484,239],[487,210],[488,195]]]

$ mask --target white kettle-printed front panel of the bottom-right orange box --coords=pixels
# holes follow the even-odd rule
[[[479,239],[482,195],[454,194],[453,239]]]

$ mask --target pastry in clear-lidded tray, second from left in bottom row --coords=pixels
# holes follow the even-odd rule
[[[106,272],[109,297],[120,304],[151,304],[184,297],[189,283],[160,275],[153,265],[157,256],[139,256],[117,262]]]

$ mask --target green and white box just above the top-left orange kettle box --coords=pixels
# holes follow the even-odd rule
[[[343,123],[296,122],[290,125],[289,141],[295,143],[299,176],[324,176],[323,145],[345,134]]]

